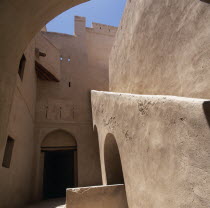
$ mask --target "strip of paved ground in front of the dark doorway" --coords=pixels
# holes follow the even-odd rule
[[[50,199],[26,206],[25,208],[65,208],[65,202],[65,198]]]

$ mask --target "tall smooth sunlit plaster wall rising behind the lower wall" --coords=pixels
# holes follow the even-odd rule
[[[110,91],[210,98],[209,19],[210,4],[200,0],[127,1]]]

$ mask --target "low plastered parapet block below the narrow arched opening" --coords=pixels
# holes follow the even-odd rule
[[[128,208],[125,186],[67,189],[66,208]]]

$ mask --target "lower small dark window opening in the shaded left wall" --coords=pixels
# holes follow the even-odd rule
[[[5,168],[10,167],[14,142],[15,142],[15,140],[12,139],[10,136],[7,138],[7,144],[5,147],[4,158],[3,158],[3,162],[2,162],[2,166]]]

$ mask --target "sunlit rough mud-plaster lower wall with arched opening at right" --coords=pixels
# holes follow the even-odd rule
[[[92,91],[92,108],[103,180],[111,133],[130,208],[210,206],[209,100]]]

